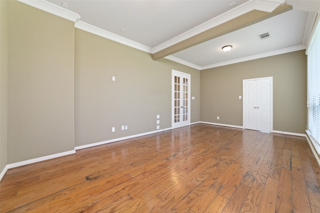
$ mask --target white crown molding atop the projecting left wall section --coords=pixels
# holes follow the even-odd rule
[[[33,6],[35,8],[41,9],[43,11],[49,12],[51,14],[60,16],[62,18],[65,18],[73,22],[76,22],[80,18],[79,14],[72,12],[68,9],[65,9],[63,7],[60,7],[46,0],[18,0],[18,1],[25,3],[29,6]]]

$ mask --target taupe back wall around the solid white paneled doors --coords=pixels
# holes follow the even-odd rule
[[[238,99],[242,80],[269,76],[273,76],[273,130],[305,134],[304,50],[202,70],[200,121],[242,126],[242,99]]]

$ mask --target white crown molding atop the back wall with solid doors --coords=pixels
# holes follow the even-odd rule
[[[302,50],[305,48],[306,47],[304,45],[296,45],[296,46],[292,46],[292,47],[288,47],[288,48],[284,48],[284,49],[278,49],[278,50],[274,50],[274,51],[270,51],[270,52],[265,52],[265,53],[251,55],[251,56],[238,58],[238,59],[234,59],[234,60],[224,61],[221,63],[215,63],[215,64],[211,64],[211,65],[207,65],[207,66],[201,66],[200,70],[210,69],[210,68],[219,67],[219,66],[225,66],[225,65],[229,65],[229,64],[254,60],[254,59],[258,59],[258,58],[269,57],[269,56],[273,56],[273,55],[284,54],[284,53],[288,53],[288,52],[294,52],[294,51]]]

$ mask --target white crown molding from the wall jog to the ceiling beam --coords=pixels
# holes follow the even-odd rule
[[[145,45],[142,45],[140,43],[137,43],[135,41],[129,40],[127,38],[121,37],[119,35],[116,35],[114,33],[111,33],[109,31],[106,31],[104,29],[101,29],[99,27],[93,26],[91,24],[85,23],[83,21],[77,21],[74,24],[74,27],[78,29],[82,29],[84,31],[99,35],[101,37],[116,41],[118,43],[142,50],[144,52],[151,53],[151,48]]]

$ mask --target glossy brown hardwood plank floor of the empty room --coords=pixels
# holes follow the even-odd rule
[[[303,137],[196,124],[7,171],[0,212],[320,213]]]

